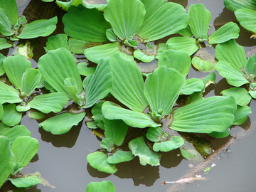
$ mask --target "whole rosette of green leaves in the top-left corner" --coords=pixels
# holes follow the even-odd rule
[[[18,39],[49,36],[56,28],[57,16],[27,23],[25,16],[18,17],[15,0],[0,1],[0,50],[14,45]]]

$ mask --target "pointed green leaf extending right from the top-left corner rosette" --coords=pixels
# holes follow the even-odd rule
[[[40,19],[23,26],[18,38],[37,38],[49,36],[55,31],[57,16],[50,19]]]

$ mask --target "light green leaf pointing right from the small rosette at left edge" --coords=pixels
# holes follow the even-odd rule
[[[53,92],[33,97],[28,106],[43,113],[61,112],[68,103],[68,97],[63,92]]]

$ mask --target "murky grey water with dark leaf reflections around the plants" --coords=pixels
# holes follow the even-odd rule
[[[16,0],[20,7],[20,14],[29,1]],[[39,0],[38,0],[39,1]],[[210,33],[222,26],[228,21],[235,21],[235,16],[232,11],[224,8],[223,0],[173,0],[176,3],[182,4],[188,10],[191,4],[205,4],[206,9],[210,10],[212,19],[210,21]],[[61,16],[63,12],[58,13]],[[59,23],[59,31],[62,30]],[[46,38],[40,38],[34,49],[33,60],[44,53],[42,45],[46,42]],[[240,38],[237,42],[245,47],[245,51],[249,52],[256,48],[256,41],[250,39],[250,34],[244,29],[240,29]],[[15,50],[10,50],[9,55]],[[209,50],[213,53],[213,50]],[[4,53],[7,55],[7,53]],[[36,62],[32,62],[36,66]],[[156,68],[156,62],[149,64],[139,64],[145,70]],[[206,73],[196,72],[191,68],[188,78],[201,78],[206,76]],[[207,96],[220,95],[220,91],[228,86],[225,80],[217,75],[218,84],[215,85],[215,90],[209,90]],[[247,134],[252,129],[256,129],[256,101],[250,103],[252,114],[249,115],[245,124],[241,127],[234,127],[231,131],[231,137],[224,139],[212,139],[210,142],[213,149],[218,148],[228,142],[232,136],[243,133]],[[118,164],[116,174],[104,174],[93,169],[87,164],[86,156],[100,148],[100,142],[92,134],[90,129],[85,125],[85,119],[77,127],[73,127],[67,134],[55,136],[43,129],[38,129],[38,122],[24,116],[21,124],[26,125],[32,133],[32,137],[38,139],[39,150],[38,154],[33,158],[31,164],[22,170],[23,174],[30,174],[36,171],[41,173],[41,176],[50,182],[49,186],[39,184],[36,187],[30,188],[30,192],[80,192],[85,191],[88,183],[91,181],[110,180],[114,184],[117,191],[182,191],[181,188],[174,188],[174,184],[162,186],[162,181],[176,181],[186,175],[191,170],[191,162],[182,159],[178,151],[165,153],[161,158],[161,166],[142,166],[139,160],[135,158],[128,163]],[[246,130],[242,132],[242,130]],[[196,181],[195,183],[186,184],[183,191],[255,191],[256,188],[256,149],[255,149],[256,132],[250,132],[250,136],[244,137],[240,142],[228,147],[227,151],[220,154],[217,160],[212,159],[216,164],[207,174],[202,176],[208,177],[208,181]],[[196,166],[196,164],[193,164]],[[0,191],[16,191],[10,183],[6,183]]]

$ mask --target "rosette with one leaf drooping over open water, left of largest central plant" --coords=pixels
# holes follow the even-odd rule
[[[106,97],[112,87],[112,74],[105,60],[97,65],[93,75],[82,81],[74,56],[65,48],[48,51],[39,58],[38,68],[50,92],[64,94],[77,104],[77,110],[57,114],[39,124],[52,134],[64,134],[78,125],[85,117],[82,109],[92,107],[97,100]]]

